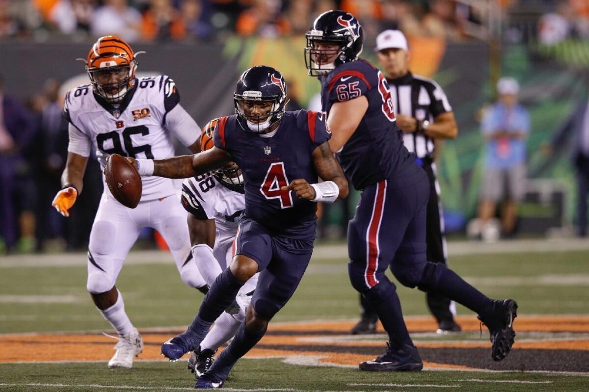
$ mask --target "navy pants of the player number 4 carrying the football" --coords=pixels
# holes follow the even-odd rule
[[[258,264],[260,277],[252,298],[257,314],[270,319],[292,297],[311,260],[313,241],[270,234],[258,222],[241,219],[235,254],[243,254]]]

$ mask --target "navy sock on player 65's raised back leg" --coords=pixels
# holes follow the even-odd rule
[[[491,304],[491,300],[485,294],[466,283],[449,268],[444,268],[434,290],[478,314],[485,313]]]

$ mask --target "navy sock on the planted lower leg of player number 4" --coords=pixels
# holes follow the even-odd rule
[[[237,360],[252,350],[252,347],[256,346],[266,333],[266,330],[267,328],[259,332],[250,331],[246,328],[246,323],[241,323],[229,347],[219,354],[219,358],[214,361],[213,366],[207,371],[207,380],[211,378],[215,378],[216,380],[214,381],[216,382],[225,380]]]

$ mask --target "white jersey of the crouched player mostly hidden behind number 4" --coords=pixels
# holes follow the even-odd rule
[[[225,185],[207,173],[184,180],[182,205],[198,219],[214,219],[217,239],[231,237],[233,241],[237,218],[246,209],[246,197],[243,187]]]

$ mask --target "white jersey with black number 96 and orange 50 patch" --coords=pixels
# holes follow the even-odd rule
[[[112,105],[92,92],[91,85],[82,85],[68,91],[65,96],[65,117],[77,131],[70,130],[68,151],[88,156],[89,151],[80,148],[72,139],[80,139],[81,132],[89,139],[96,151],[102,169],[111,154],[124,157],[164,159],[173,157],[174,147],[169,131],[189,146],[200,135],[196,122],[183,127],[166,125],[170,111],[184,109],[178,105],[178,94],[174,81],[166,75],[138,78],[120,105]],[[187,115],[187,114],[186,114]],[[72,127],[70,127],[72,129]],[[104,181],[104,175],[103,179]],[[141,201],[150,201],[175,194],[172,180],[162,177],[143,177]],[[107,190],[107,187],[104,187]]]

